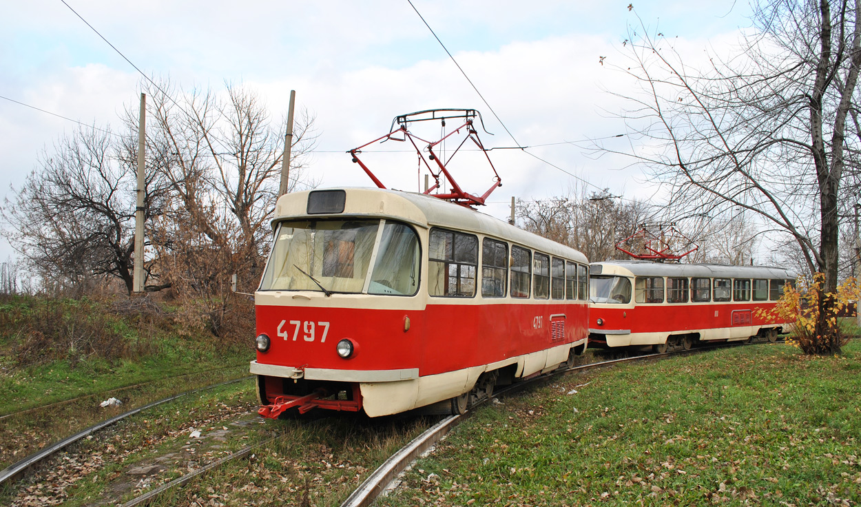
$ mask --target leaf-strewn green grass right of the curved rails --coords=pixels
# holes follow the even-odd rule
[[[861,502],[861,343],[569,374],[481,408],[382,505]]]

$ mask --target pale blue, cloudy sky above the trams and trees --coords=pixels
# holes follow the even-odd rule
[[[492,151],[503,187],[483,211],[500,218],[512,195],[544,199],[582,180],[589,189],[660,199],[640,167],[596,158],[588,141],[626,133],[617,117],[625,102],[613,92],[632,85],[618,70],[629,27],[642,22],[696,58],[731,50],[749,25],[747,4],[728,0],[635,2],[633,10],[629,0],[66,3],[5,2],[0,16],[0,197],[11,198],[10,187],[38,169],[40,152],[77,128],[34,108],[97,127],[119,127],[119,115],[138,108],[139,72],[71,9],[141,71],[184,89],[242,84],[276,119],[296,90],[297,107],[316,116],[311,170],[332,187],[372,186],[344,151],[387,133],[398,114],[475,108],[494,134],[481,133],[487,147],[515,145],[414,5],[517,143],[581,178],[520,151]],[[608,142],[631,149],[627,137]],[[393,167],[391,155],[371,155],[364,160],[379,164],[387,186],[418,189],[414,158]],[[491,176],[482,168],[462,180],[480,194]],[[14,250],[0,240],[0,261],[10,256]]]

